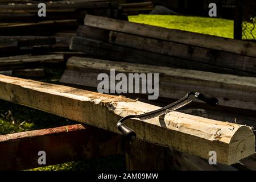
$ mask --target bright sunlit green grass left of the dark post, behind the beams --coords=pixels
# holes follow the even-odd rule
[[[129,21],[233,39],[233,20],[197,16],[138,15],[129,16]]]

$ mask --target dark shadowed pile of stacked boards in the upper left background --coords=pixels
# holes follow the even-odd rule
[[[151,2],[127,4],[122,0],[44,1],[46,16],[39,17],[40,2],[0,2],[0,71],[5,71],[2,74],[16,75],[15,69],[19,73],[26,69],[27,73],[31,68],[42,69],[45,63],[64,63],[71,56],[81,56],[82,53],[71,51],[69,44],[88,13],[127,19],[127,9],[152,6]],[[35,70],[30,76],[32,73]]]

